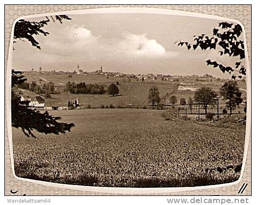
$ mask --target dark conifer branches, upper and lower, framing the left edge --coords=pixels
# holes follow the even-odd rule
[[[64,19],[71,20],[67,15],[51,16],[50,18],[53,21],[58,20],[60,23],[62,23]],[[27,39],[32,46],[40,49],[39,42],[34,39],[33,35],[48,35],[49,32],[42,30],[42,27],[47,25],[49,21],[49,17],[39,22],[18,20],[14,27],[14,39]],[[15,42],[16,41],[14,41],[14,43]],[[47,111],[40,113],[36,109],[31,109],[28,106],[29,101],[20,100],[21,97],[16,88],[26,80],[22,72],[11,71],[11,126],[21,128],[27,137],[35,137],[32,133],[33,130],[37,130],[40,133],[53,133],[57,135],[70,131],[70,128],[74,126],[73,123],[60,123],[57,120],[61,119],[61,117],[50,116]]]

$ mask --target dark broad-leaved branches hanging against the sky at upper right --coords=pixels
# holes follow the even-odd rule
[[[242,34],[242,27],[239,24],[232,24],[227,22],[221,22],[218,27],[213,29],[211,37],[202,34],[194,36],[194,43],[183,42],[179,40],[178,46],[187,46],[187,49],[193,48],[194,50],[200,48],[206,49],[218,49],[219,54],[228,55],[229,57],[239,57],[240,61],[237,61],[234,67],[224,66],[221,63],[208,59],[207,65],[211,65],[214,68],[219,68],[223,73],[228,72],[232,75],[232,79],[236,77],[242,78],[242,75],[246,75],[246,68],[242,65],[241,60],[245,58],[244,41],[239,38]],[[236,72],[237,74],[234,74]],[[238,75],[238,76],[237,76]]]

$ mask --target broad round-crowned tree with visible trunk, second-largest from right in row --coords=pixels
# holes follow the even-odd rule
[[[209,87],[198,88],[194,95],[194,101],[203,105],[205,113],[207,114],[207,106],[216,103],[217,95]]]

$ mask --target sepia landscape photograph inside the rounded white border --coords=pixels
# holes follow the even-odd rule
[[[248,98],[239,21],[115,10],[25,17],[13,29],[17,177],[124,188],[238,181]]]

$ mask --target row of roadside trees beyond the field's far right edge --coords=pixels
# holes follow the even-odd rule
[[[237,86],[237,82],[235,80],[229,80],[224,83],[220,88],[220,95],[223,100],[226,101],[226,107],[229,109],[232,114],[232,110],[236,109],[236,106],[239,105],[243,99],[241,98],[241,92]],[[209,105],[214,105],[217,102],[217,94],[209,87],[198,88],[195,92],[194,98],[189,97],[188,101],[186,98],[180,98],[180,105],[189,105],[190,112],[192,113],[192,106],[202,105],[205,109],[205,113],[207,114],[207,107]],[[152,103],[152,106],[158,104],[160,102],[159,91],[156,85],[152,86],[148,91],[148,102]],[[171,96],[169,99],[169,103],[172,106],[177,104],[177,97]]]

